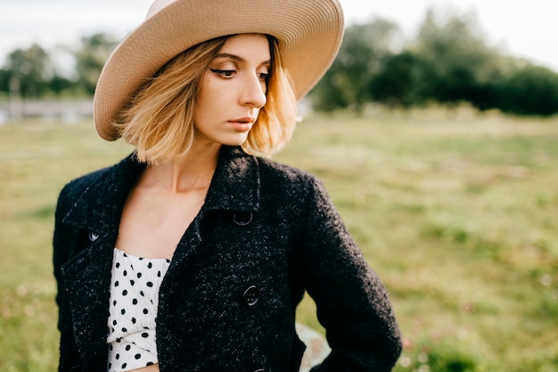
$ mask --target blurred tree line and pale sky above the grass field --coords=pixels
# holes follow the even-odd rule
[[[369,103],[402,108],[469,103],[480,111],[558,111],[558,28],[552,19],[558,4],[341,3],[346,36],[332,70],[309,96],[316,110],[362,112]],[[150,0],[4,4],[0,122],[63,110],[52,102],[23,104],[21,99],[64,99],[67,119],[90,113],[87,98],[93,95],[103,62],[144,20],[149,4]]]

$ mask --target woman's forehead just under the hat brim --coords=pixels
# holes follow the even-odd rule
[[[219,51],[233,54],[245,60],[267,62],[270,59],[269,42],[263,34],[240,34],[229,37]]]

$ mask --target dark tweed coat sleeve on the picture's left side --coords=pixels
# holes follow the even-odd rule
[[[78,232],[62,222],[71,206],[69,189],[70,186],[65,186],[58,197],[53,232],[53,274],[57,284],[56,304],[58,305],[58,330],[60,331],[59,372],[70,371],[71,367],[80,364],[73,336],[70,305],[65,295],[65,285],[62,279],[62,265],[70,260],[70,255],[78,244]]]

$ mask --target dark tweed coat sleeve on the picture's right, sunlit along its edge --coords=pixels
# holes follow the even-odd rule
[[[303,280],[332,348],[312,372],[390,371],[402,347],[388,294],[324,186],[316,178],[310,179]]]

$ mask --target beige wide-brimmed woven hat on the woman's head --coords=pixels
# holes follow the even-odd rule
[[[104,139],[117,139],[111,120],[147,79],[189,47],[226,35],[275,37],[300,99],[332,64],[343,28],[338,0],[155,0],[103,67],[94,93],[95,128]]]

